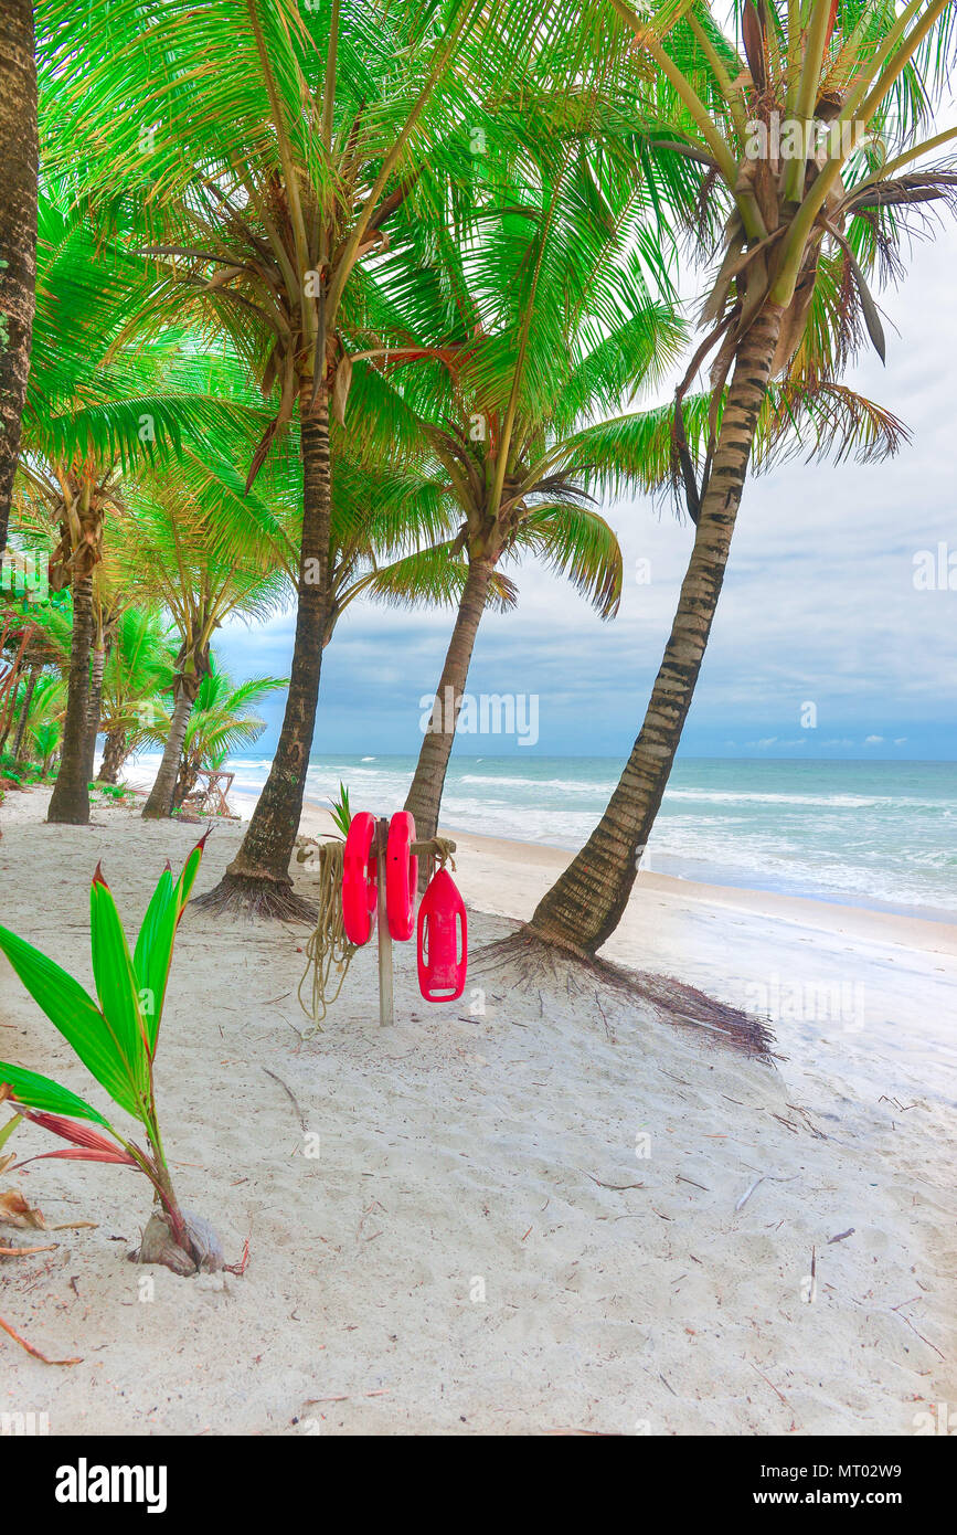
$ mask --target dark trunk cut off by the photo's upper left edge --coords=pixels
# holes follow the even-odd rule
[[[0,554],[6,548],[37,286],[37,64],[32,0],[0,6]]]

